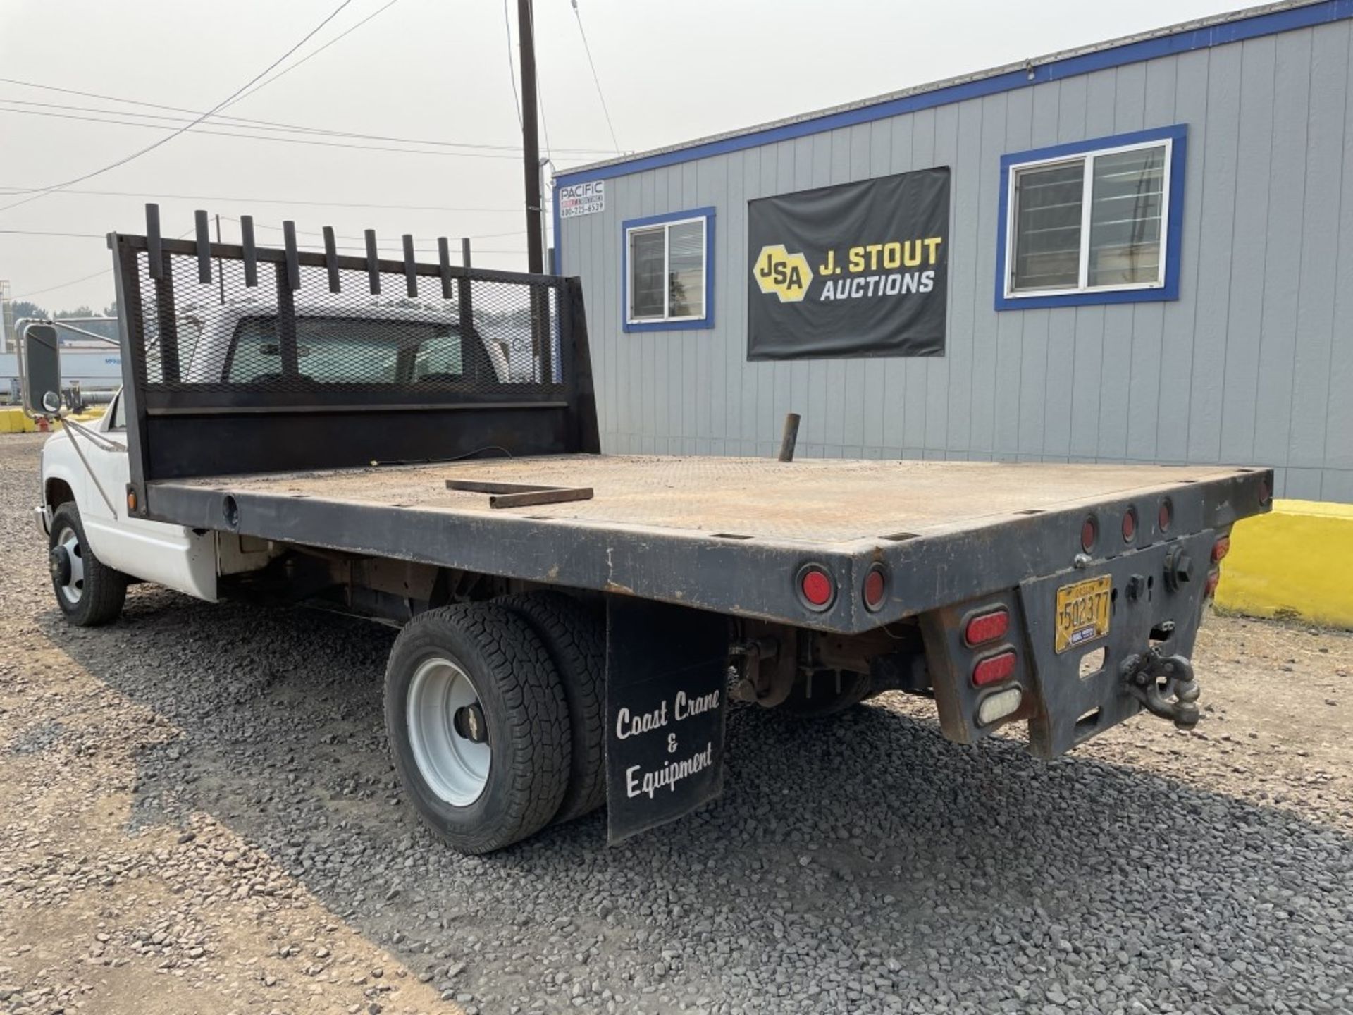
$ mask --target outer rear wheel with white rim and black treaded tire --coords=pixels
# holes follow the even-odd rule
[[[559,674],[526,621],[494,604],[405,625],[386,670],[386,729],[418,816],[461,853],[533,835],[568,788]]]

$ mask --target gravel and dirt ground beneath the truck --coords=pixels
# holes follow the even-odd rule
[[[1353,637],[1212,618],[1192,735],[1055,763],[885,696],[746,709],[727,794],[438,846],[384,752],[392,632],[133,589],[65,625],[0,438],[0,1011],[1353,1011]]]

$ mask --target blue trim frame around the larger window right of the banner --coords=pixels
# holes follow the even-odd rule
[[[1009,227],[1009,171],[1012,165],[1042,162],[1049,158],[1082,156],[1126,145],[1143,145],[1151,141],[1172,141],[1170,146],[1170,202],[1166,208],[1165,231],[1165,284],[1141,290],[1077,290],[1066,294],[1046,294],[1039,296],[1005,295],[1005,253]],[[1091,141],[1076,141],[1069,145],[1036,148],[1031,152],[1013,152],[1001,156],[1000,203],[996,221],[996,309],[997,310],[1039,310],[1043,307],[1082,307],[1104,303],[1155,303],[1180,298],[1180,235],[1184,226],[1184,166],[1188,156],[1188,126],[1177,123],[1172,127],[1138,130],[1131,134],[1114,134]]]

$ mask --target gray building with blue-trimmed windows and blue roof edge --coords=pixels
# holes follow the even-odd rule
[[[1115,153],[1145,211],[1105,253]],[[931,166],[951,169],[944,355],[750,361],[748,202]],[[1058,180],[1077,196],[1040,212]],[[1353,0],[571,169],[555,235],[605,451],[770,455],[798,411],[801,455],[1261,463],[1280,497],[1353,501]]]

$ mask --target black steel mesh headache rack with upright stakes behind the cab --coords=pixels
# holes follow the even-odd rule
[[[131,486],[203,475],[598,452],[578,279],[111,233]]]

